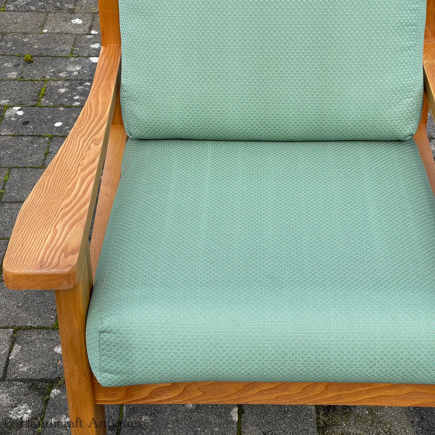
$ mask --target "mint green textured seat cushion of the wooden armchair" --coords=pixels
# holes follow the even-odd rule
[[[127,143],[87,319],[102,385],[435,383],[415,143]]]

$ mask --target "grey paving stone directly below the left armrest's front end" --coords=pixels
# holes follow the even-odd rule
[[[0,326],[53,326],[56,302],[51,290],[9,290],[0,282]]]

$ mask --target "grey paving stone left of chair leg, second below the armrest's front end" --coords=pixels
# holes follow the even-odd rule
[[[59,330],[19,330],[9,355],[6,378],[8,380],[60,378],[64,374],[61,361]]]

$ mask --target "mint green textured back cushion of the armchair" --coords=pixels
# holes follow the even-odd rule
[[[422,104],[426,0],[120,0],[131,137],[397,140]]]

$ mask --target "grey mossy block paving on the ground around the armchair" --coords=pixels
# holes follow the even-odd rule
[[[6,0],[0,6],[1,274],[21,204],[87,98],[100,30],[96,0]],[[435,153],[432,117],[428,134]],[[432,408],[125,405],[107,406],[106,415],[110,435],[435,433]],[[13,419],[12,427],[5,418]],[[67,419],[54,294],[10,291],[1,279],[0,434],[68,434],[51,427]]]

